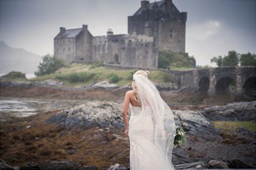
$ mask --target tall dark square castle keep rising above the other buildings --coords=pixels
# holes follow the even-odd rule
[[[152,35],[159,51],[185,52],[186,19],[187,12],[180,12],[172,0],[142,1],[134,15],[128,17],[128,33]]]

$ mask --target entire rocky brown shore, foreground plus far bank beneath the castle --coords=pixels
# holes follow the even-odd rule
[[[91,101],[65,110],[42,112],[1,123],[0,138],[3,144],[0,146],[0,158],[3,160],[0,160],[0,169],[70,168],[71,165],[74,169],[128,169],[129,138],[124,136],[121,109],[124,94],[130,87],[111,88],[60,88],[1,82],[2,97]],[[176,124],[184,128],[188,139],[182,148],[173,149],[172,162],[177,169],[256,167],[255,132],[243,127],[224,132],[212,123],[255,120],[255,101],[223,106],[186,104],[184,107],[173,102],[175,95],[171,91],[164,91],[163,94],[167,101],[172,102],[169,105]],[[169,99],[167,94],[174,97]],[[188,98],[188,95],[181,98]]]

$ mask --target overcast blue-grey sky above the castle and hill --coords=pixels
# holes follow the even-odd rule
[[[154,0],[151,2],[154,2]],[[197,65],[228,51],[256,53],[256,0],[173,0],[187,12],[186,52]],[[53,53],[59,27],[87,24],[93,36],[127,33],[140,0],[0,0],[0,40],[38,55]]]

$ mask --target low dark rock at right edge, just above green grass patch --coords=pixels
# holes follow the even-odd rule
[[[256,101],[235,102],[224,106],[212,106],[200,112],[213,121],[247,121],[256,119]]]

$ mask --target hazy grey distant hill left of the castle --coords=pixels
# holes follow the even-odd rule
[[[31,74],[41,62],[41,56],[24,49],[13,48],[0,41],[0,73],[20,71]]]

